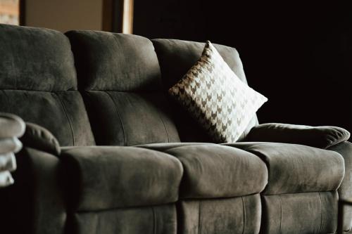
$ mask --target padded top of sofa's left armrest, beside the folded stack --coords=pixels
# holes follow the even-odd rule
[[[26,122],[25,134],[20,138],[25,147],[34,148],[52,155],[59,156],[61,153],[60,144],[53,134],[37,124]]]

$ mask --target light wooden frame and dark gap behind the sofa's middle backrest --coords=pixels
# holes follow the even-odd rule
[[[134,0],[103,0],[103,31],[133,32]]]

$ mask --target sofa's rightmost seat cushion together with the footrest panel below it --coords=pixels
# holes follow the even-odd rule
[[[337,188],[344,178],[344,158],[339,153],[285,143],[226,145],[252,152],[267,164],[263,233],[335,232]]]

